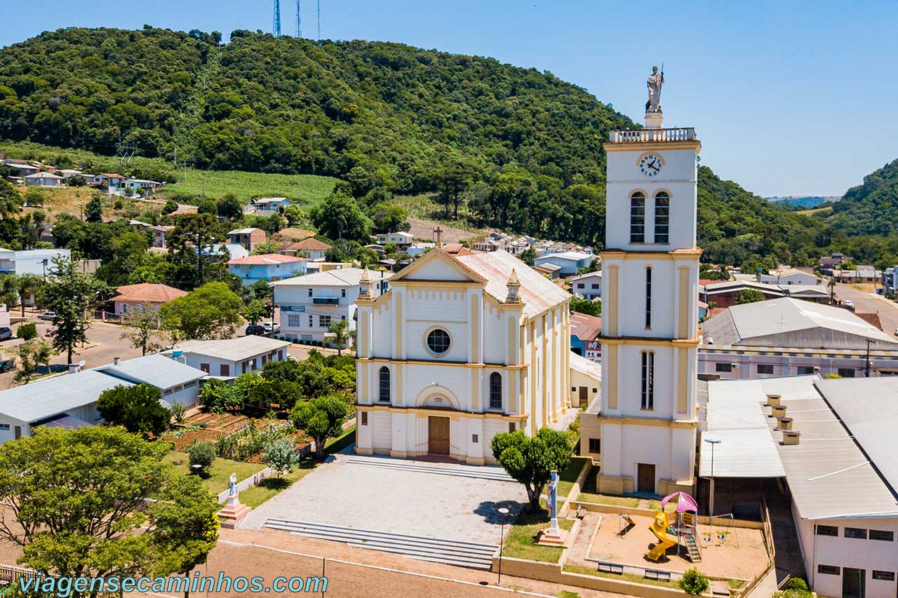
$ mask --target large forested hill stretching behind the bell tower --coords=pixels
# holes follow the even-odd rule
[[[438,191],[473,224],[601,247],[602,144],[636,125],[576,85],[394,43],[220,37],[67,29],[0,48],[0,138],[113,154],[130,136],[200,168],[339,177],[365,207]],[[706,259],[825,251],[819,219],[704,167],[699,220]]]

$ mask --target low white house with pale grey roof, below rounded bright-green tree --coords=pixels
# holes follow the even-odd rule
[[[230,378],[260,369],[269,361],[289,358],[286,340],[250,335],[238,339],[185,340],[165,355],[179,356],[190,367],[214,377]]]

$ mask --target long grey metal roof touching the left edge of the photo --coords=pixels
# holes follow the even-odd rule
[[[25,422],[90,405],[102,391],[133,383],[96,370],[84,370],[0,391],[0,413]]]

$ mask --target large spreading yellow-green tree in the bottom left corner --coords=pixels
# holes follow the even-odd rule
[[[121,427],[39,427],[0,444],[0,538],[22,547],[22,566],[57,576],[192,567],[215,547],[219,506],[163,462],[168,449]]]

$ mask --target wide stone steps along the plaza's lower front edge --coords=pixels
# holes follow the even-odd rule
[[[498,550],[498,546],[489,544],[441,540],[439,538],[409,536],[401,533],[357,530],[338,525],[307,523],[287,519],[269,519],[263,527],[319,540],[345,542],[354,548],[382,550],[383,552],[392,552],[435,563],[484,570],[489,570],[492,566],[493,554]]]

